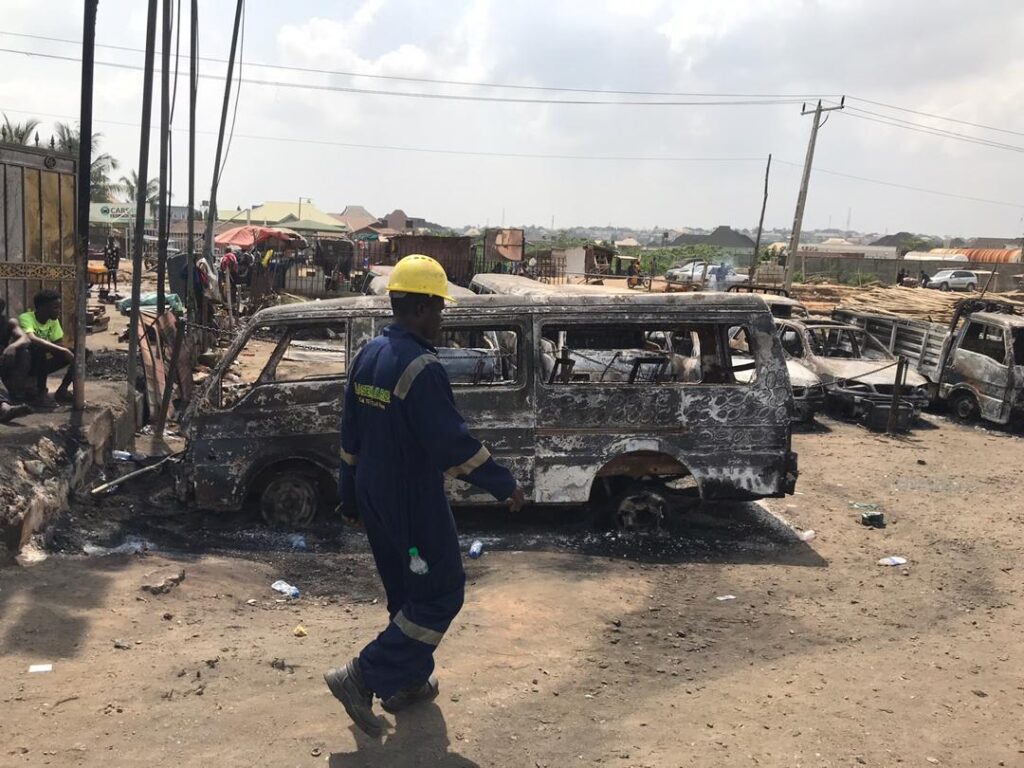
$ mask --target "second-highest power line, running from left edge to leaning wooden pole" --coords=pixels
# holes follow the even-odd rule
[[[51,58],[58,61],[80,61],[75,56],[62,56],[56,53],[36,53],[33,51],[16,50],[14,48],[0,48],[3,53],[17,53],[24,56],[36,56],[40,58]],[[96,61],[97,67],[113,67],[120,70],[137,70],[142,68],[136,65],[119,63],[116,61]],[[203,75],[199,77],[219,80],[216,75]],[[772,98],[772,99],[719,99],[714,101],[645,101],[645,100],[606,100],[606,99],[563,99],[563,98],[517,98],[511,96],[480,96],[456,93],[423,93],[415,91],[388,91],[373,88],[352,88],[342,85],[317,85],[314,83],[289,83],[281,80],[256,80],[243,78],[243,83],[250,85],[266,85],[283,88],[301,88],[314,91],[332,91],[337,93],[361,93],[374,96],[399,96],[406,98],[427,98],[445,99],[452,101],[486,101],[502,103],[520,104],[580,104],[580,105],[605,105],[605,106],[754,106],[773,104],[794,104],[800,103],[800,99],[793,98]]]

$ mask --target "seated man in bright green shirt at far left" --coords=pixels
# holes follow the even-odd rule
[[[53,393],[53,400],[71,402],[69,393],[75,375],[75,352],[61,344],[63,329],[60,328],[60,294],[49,289],[40,291],[33,299],[35,311],[22,312],[17,323],[29,337],[29,362],[27,371],[26,399],[30,402],[48,404],[46,377],[67,368],[60,386]]]

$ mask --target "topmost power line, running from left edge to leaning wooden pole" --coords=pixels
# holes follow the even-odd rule
[[[0,31],[0,35],[28,38],[31,40],[45,40],[53,43],[69,43],[72,45],[81,45],[81,41],[79,40],[47,37],[45,35],[29,35],[23,32]],[[111,50],[129,51],[132,53],[143,52],[141,48],[132,48],[126,45],[101,45],[97,43],[96,47],[109,48]],[[227,60],[224,58],[213,58],[210,56],[200,56],[200,60],[212,61],[215,63],[227,63]],[[324,70],[313,67],[294,67],[287,65],[259,63],[256,61],[250,61],[249,66],[271,69],[271,70],[281,70],[283,72],[301,72],[305,74],[314,74],[314,75],[336,75],[339,77],[369,78],[373,80],[390,80],[390,81],[399,81],[407,83],[427,83],[430,85],[457,85],[457,86],[475,87],[475,88],[506,88],[510,90],[553,91],[561,93],[599,93],[608,96],[674,96],[674,97],[708,97],[708,98],[824,98],[826,96],[841,95],[838,93],[714,93],[714,92],[682,92],[682,91],[614,90],[606,88],[572,88],[572,87],[551,86],[551,85],[479,83],[468,80],[440,80],[436,78],[416,78],[416,77],[403,77],[399,75],[371,75],[361,72],[344,72],[341,70]]]

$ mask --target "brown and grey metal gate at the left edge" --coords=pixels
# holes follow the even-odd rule
[[[60,292],[65,337],[75,336],[80,265],[75,254],[76,161],[0,144],[0,298],[11,317],[44,288]]]

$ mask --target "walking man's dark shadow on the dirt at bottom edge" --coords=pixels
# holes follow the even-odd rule
[[[356,751],[331,755],[331,768],[479,768],[472,760],[449,752],[447,724],[433,701],[396,714],[394,730],[386,730],[382,739],[372,739],[354,726],[352,730]]]

